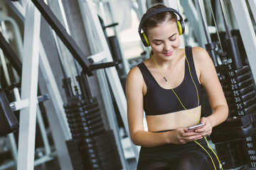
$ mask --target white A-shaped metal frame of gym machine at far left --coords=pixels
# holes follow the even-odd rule
[[[33,6],[32,2],[27,1],[27,7],[26,7],[26,16],[23,16],[24,10],[21,4],[18,3],[11,3],[16,4],[18,6],[18,10],[14,11],[21,11],[18,12],[21,16],[21,18],[26,17],[25,22],[25,38],[33,38],[33,40],[24,40],[24,52],[23,52],[23,63],[26,63],[23,65],[23,76],[22,76],[22,84],[21,84],[21,98],[29,99],[28,101],[31,101],[29,103],[29,106],[27,108],[24,108],[21,111],[21,120],[20,120],[20,134],[19,134],[19,147],[21,148],[18,150],[18,169],[33,169],[34,165],[34,145],[35,145],[35,107],[37,105],[35,96],[37,91],[37,71],[38,71],[38,52],[39,47],[41,50],[41,57],[40,57],[40,65],[42,71],[45,73],[44,76],[46,78],[46,81],[48,80],[48,89],[50,92],[52,92],[52,98],[53,103],[55,103],[55,111],[57,113],[57,117],[55,115],[51,115],[51,120],[55,120],[54,122],[50,123],[51,125],[57,124],[61,126],[61,129],[59,130],[59,136],[61,137],[55,137],[55,142],[58,142],[59,149],[64,152],[64,158],[61,157],[62,161],[65,162],[65,168],[70,168],[71,166],[68,166],[68,161],[70,161],[68,157],[68,152],[65,153],[65,141],[62,142],[62,138],[70,139],[70,132],[68,128],[68,123],[65,118],[64,110],[63,110],[63,103],[61,103],[62,98],[60,97],[58,88],[55,84],[55,80],[53,78],[53,73],[50,69],[50,64],[48,64],[48,60],[46,57],[46,54],[43,50],[43,45],[39,43],[40,38],[38,37],[40,33],[40,13],[38,13],[35,6]],[[23,3],[24,4],[24,3]],[[29,24],[30,23],[30,24]],[[33,29],[32,31],[30,29]],[[33,33],[37,36],[33,36]],[[32,35],[32,36],[31,36]],[[31,48],[32,47],[32,48]],[[29,50],[26,50],[26,48],[29,48]],[[33,56],[33,57],[32,57]],[[33,60],[32,60],[33,59]],[[31,74],[29,74],[31,73]],[[32,74],[33,73],[33,74]],[[31,82],[30,86],[26,86],[28,82]],[[33,96],[32,96],[33,95]],[[33,98],[33,100],[32,100]],[[55,129],[55,130],[58,130]],[[54,138],[54,137],[53,137]],[[58,138],[60,140],[58,140]],[[56,140],[57,139],[57,140]],[[63,145],[62,145],[63,144]],[[62,153],[63,153],[62,152]],[[46,160],[45,160],[46,161]]]

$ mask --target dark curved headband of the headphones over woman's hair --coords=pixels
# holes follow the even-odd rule
[[[183,21],[183,18],[182,18],[182,16],[181,16],[181,14],[180,13],[178,13],[178,11],[176,10],[176,9],[174,9],[174,8],[158,8],[158,9],[156,9],[156,10],[154,10],[154,11],[151,11],[150,13],[147,13],[145,16],[143,16],[142,17],[142,20],[141,20],[141,22],[139,23],[139,33],[141,33],[141,31],[142,31],[142,25],[143,25],[143,23],[149,18],[149,17],[151,17],[151,16],[154,16],[156,13],[161,13],[161,12],[164,12],[164,11],[171,11],[171,12],[174,12],[174,13],[176,13],[178,16],[179,16],[179,21]]]

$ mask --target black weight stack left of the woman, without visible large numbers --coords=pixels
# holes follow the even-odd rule
[[[64,105],[72,140],[66,141],[73,169],[122,169],[112,130],[105,130],[96,98],[92,103],[78,97]]]

